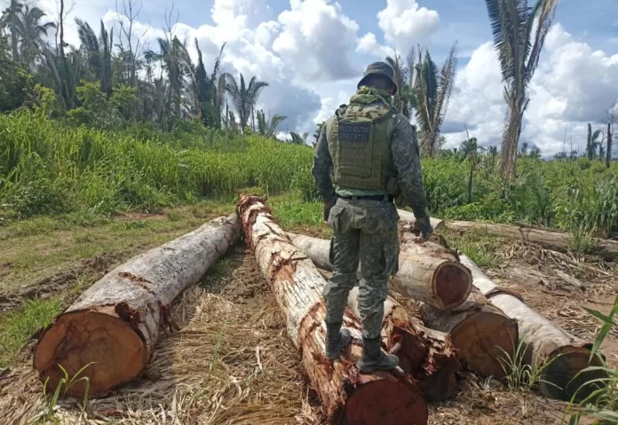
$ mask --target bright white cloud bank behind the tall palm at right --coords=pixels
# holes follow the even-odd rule
[[[593,51],[556,24],[530,83],[521,141],[540,147],[544,155],[559,153],[566,129],[573,135],[574,148],[581,150],[587,122],[601,128],[606,109],[617,99],[618,54]],[[487,42],[457,75],[445,122],[445,129],[451,130],[448,147],[464,140],[464,124],[483,146],[499,146],[506,112],[499,62],[493,44]]]

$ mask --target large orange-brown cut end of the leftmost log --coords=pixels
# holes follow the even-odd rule
[[[65,377],[62,366],[72,379],[90,379],[88,397],[99,397],[115,386],[137,378],[147,363],[146,345],[131,325],[110,314],[97,311],[73,311],[52,324],[36,345],[35,367],[40,378],[53,392]],[[68,390],[72,397],[83,397],[86,384],[75,382]]]

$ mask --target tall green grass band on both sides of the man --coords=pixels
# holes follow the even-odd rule
[[[312,149],[185,122],[170,133],[140,124],[117,131],[72,127],[41,114],[0,115],[0,224],[30,216],[155,211],[231,199],[242,187],[295,190],[319,201]],[[540,224],[588,236],[618,234],[618,163],[521,158],[503,184],[481,161],[467,201],[469,164],[456,155],[424,159],[435,216]],[[319,217],[318,217],[319,218]]]

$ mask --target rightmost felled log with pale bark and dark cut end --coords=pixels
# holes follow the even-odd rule
[[[585,382],[606,377],[601,372],[587,372],[575,378],[588,366],[600,366],[598,358],[589,364],[592,344],[567,334],[530,309],[517,296],[501,291],[467,256],[462,255],[461,260],[471,270],[474,286],[490,297],[490,303],[519,323],[521,339],[528,345],[527,362],[531,363],[536,358],[540,364],[552,361],[541,375],[539,388],[543,396],[569,400]],[[587,397],[591,390],[594,388],[585,387],[578,393],[578,399]]]

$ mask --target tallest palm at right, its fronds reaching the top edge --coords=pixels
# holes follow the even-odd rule
[[[527,0],[485,0],[508,106],[500,150],[500,171],[506,180],[515,177],[521,122],[529,102],[528,84],[535,74],[558,2],[537,0],[530,9]],[[535,21],[535,38],[531,43]]]

